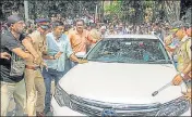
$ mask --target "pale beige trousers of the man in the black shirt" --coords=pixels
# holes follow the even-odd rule
[[[1,116],[7,116],[12,96],[19,107],[16,116],[23,116],[24,113],[26,114],[26,90],[24,79],[15,83],[1,81]]]

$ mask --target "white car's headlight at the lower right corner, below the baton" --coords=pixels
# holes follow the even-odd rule
[[[189,108],[190,102],[184,96],[180,96],[163,104],[156,116],[179,116],[189,110]]]

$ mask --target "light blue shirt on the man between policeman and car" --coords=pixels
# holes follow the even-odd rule
[[[58,40],[55,39],[52,32],[46,35],[47,53],[48,55],[56,55],[58,52],[63,52],[57,60],[45,60],[48,68],[58,72],[64,72],[65,60],[73,53],[70,40],[67,35],[62,35]]]

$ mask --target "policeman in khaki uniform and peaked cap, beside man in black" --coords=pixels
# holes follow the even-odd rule
[[[31,40],[33,47],[25,43],[25,48],[29,51],[35,61],[26,61],[25,68],[25,82],[27,92],[27,113],[28,116],[44,116],[44,103],[45,103],[45,82],[41,76],[40,68],[45,66],[43,61],[43,53],[46,52],[46,34],[48,32],[49,26],[48,21],[37,21],[37,30],[29,34],[26,38]]]

